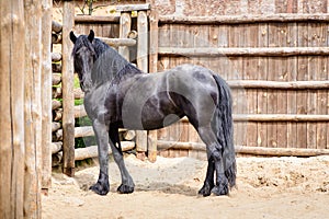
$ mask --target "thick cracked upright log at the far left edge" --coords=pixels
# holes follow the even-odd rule
[[[24,2],[0,1],[0,218],[23,218]]]

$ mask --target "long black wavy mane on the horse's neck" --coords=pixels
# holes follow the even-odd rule
[[[95,57],[91,71],[91,80],[94,87],[111,82],[113,79],[120,81],[124,77],[143,73],[143,71],[99,38],[94,38],[91,43],[88,36],[80,35],[72,54],[76,54],[82,46],[91,50]]]

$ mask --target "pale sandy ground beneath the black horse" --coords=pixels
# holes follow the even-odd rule
[[[238,188],[225,197],[196,195],[205,161],[127,155],[125,162],[136,184],[129,195],[115,192],[121,180],[113,161],[106,196],[88,191],[98,165],[75,178],[54,173],[43,218],[329,218],[329,157],[238,158]]]

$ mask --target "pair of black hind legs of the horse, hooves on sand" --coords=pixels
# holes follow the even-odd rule
[[[214,193],[215,195],[227,195],[228,180],[225,176],[223,164],[223,146],[211,127],[200,127],[197,132],[207,147],[208,157],[207,174],[204,186],[201,188],[200,193],[204,196],[207,196],[211,193]],[[214,183],[214,170],[216,172],[216,182],[215,186],[212,187],[212,183]]]

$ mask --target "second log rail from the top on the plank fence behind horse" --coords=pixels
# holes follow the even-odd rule
[[[239,47],[239,48],[179,48],[159,47],[159,55],[184,57],[220,57],[220,56],[328,56],[329,47]]]

